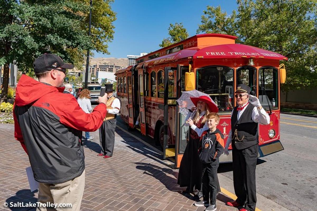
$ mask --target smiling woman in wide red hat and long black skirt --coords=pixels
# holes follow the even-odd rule
[[[218,112],[218,108],[208,96],[191,97],[196,107],[191,108],[186,117],[185,126],[190,126],[189,142],[185,148],[179,167],[178,181],[180,187],[187,187],[187,193],[198,190],[196,198],[201,198],[202,164],[198,158],[198,147],[201,134],[208,130],[206,116],[210,112]]]

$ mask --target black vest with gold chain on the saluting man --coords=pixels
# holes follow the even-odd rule
[[[239,121],[237,120],[236,106],[231,116],[231,133],[232,133],[232,148],[245,149],[259,143],[258,139],[258,123],[252,120],[252,111],[254,106],[250,103],[247,105]]]

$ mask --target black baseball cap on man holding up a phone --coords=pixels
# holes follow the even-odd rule
[[[52,53],[44,53],[42,56],[35,59],[33,68],[36,73],[53,70],[56,68],[73,69],[73,64],[64,63],[63,60]]]

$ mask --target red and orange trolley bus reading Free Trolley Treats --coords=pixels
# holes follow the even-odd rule
[[[184,90],[210,95],[219,108],[218,129],[226,141],[230,114],[236,106],[236,84],[249,85],[270,115],[269,125],[259,125],[259,157],[283,150],[280,84],[286,73],[280,61],[287,58],[235,44],[235,39],[224,34],[195,35],[142,56],[136,65],[115,73],[122,120],[133,127],[140,115],[140,132],[161,145],[164,158],[174,159],[175,167],[179,167],[188,141],[189,128],[183,126],[185,117],[178,113],[176,103]],[[231,152],[220,161],[232,161]]]

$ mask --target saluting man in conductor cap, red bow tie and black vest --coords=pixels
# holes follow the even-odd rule
[[[250,95],[250,87],[238,84],[235,97],[237,106],[231,113],[231,130],[224,149],[232,145],[233,185],[236,201],[227,202],[232,207],[242,206],[240,211],[256,208],[256,160],[258,156],[258,123],[268,125],[270,117],[259,99]]]

